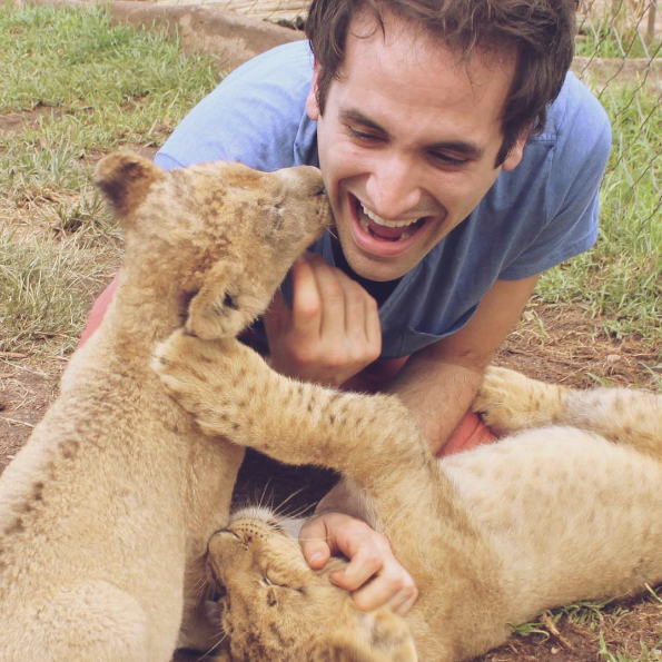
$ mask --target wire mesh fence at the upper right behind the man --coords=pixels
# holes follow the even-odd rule
[[[642,228],[662,215],[661,47],[660,2],[582,0],[574,69],[610,113],[614,135],[603,213],[626,209]]]

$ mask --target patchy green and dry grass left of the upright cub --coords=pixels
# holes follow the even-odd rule
[[[219,76],[103,9],[6,4],[0,69],[0,352],[65,355],[120,259],[93,164],[162,144]]]

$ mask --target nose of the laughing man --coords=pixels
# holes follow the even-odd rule
[[[402,155],[384,155],[373,165],[366,192],[373,211],[383,218],[411,218],[423,199],[418,168]]]

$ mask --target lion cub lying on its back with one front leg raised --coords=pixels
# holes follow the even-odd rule
[[[340,561],[312,571],[287,523],[238,514],[209,543],[219,660],[456,662],[546,607],[662,581],[662,396],[493,368],[475,408],[510,436],[437,461],[394,396],[299,384],[227,340],[175,334],[157,358],[207,434],[342,472],[421,591],[406,619],[360,613],[327,579]]]

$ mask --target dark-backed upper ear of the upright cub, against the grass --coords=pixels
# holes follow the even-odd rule
[[[164,171],[131,151],[116,151],[97,165],[95,184],[112,205],[117,217],[126,224]]]

